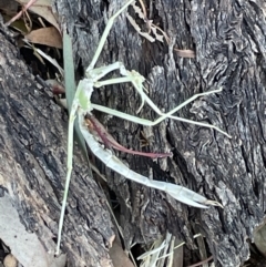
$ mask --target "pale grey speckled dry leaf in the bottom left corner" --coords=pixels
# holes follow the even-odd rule
[[[48,254],[34,233],[28,233],[9,195],[0,197],[0,238],[24,267],[63,267],[65,255]]]

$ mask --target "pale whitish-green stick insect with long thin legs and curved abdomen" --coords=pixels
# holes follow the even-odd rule
[[[158,124],[165,119],[172,119],[172,120],[177,120],[186,123],[192,123],[209,129],[214,129],[226,136],[231,137],[226,132],[222,131],[221,129],[209,125],[206,123],[201,123],[201,122],[195,122],[191,121],[187,119],[174,116],[173,114],[181,110],[183,106],[187,105],[195,99],[212,94],[212,93],[218,93],[222,91],[222,89],[218,90],[213,90],[209,92],[205,93],[200,93],[195,94],[191,99],[186,100],[178,106],[176,106],[174,110],[167,112],[167,113],[162,113],[158,107],[152,102],[152,100],[144,93],[144,88],[143,88],[143,82],[145,79],[136,71],[127,71],[125,66],[123,65],[122,62],[115,62],[106,66],[101,66],[96,68],[95,63],[100,57],[100,53],[102,51],[102,48],[105,43],[105,40],[108,38],[108,34],[114,23],[114,20],[116,17],[119,17],[134,0],[127,1],[116,13],[114,13],[108,21],[108,24],[105,27],[105,30],[101,37],[100,43],[96,48],[95,54],[92,59],[92,62],[88,66],[85,71],[85,79],[81,80],[78,84],[78,89],[72,102],[71,111],[70,111],[70,116],[69,116],[69,134],[68,134],[68,173],[66,173],[66,179],[65,179],[65,187],[64,187],[64,195],[63,195],[63,202],[62,202],[62,208],[61,208],[61,216],[60,216],[60,222],[59,222],[59,234],[58,234],[58,245],[57,245],[57,251],[55,255],[59,254],[60,250],[60,243],[61,243],[61,234],[62,234],[62,226],[63,226],[63,218],[64,218],[64,212],[65,212],[65,206],[66,206],[66,198],[68,198],[68,191],[69,191],[69,185],[70,185],[70,178],[71,178],[71,172],[72,172],[72,156],[73,156],[73,126],[74,126],[74,121],[75,121],[75,114],[78,114],[79,119],[79,127],[80,131],[89,145],[90,150],[92,151],[93,154],[95,154],[108,167],[112,168],[113,171],[120,173],[124,177],[132,179],[136,183],[143,184],[145,186],[156,188],[160,191],[163,191],[174,197],[175,199],[185,203],[187,205],[192,205],[195,207],[200,208],[207,208],[208,205],[215,205],[215,206],[221,206],[219,203],[215,201],[208,201],[206,197],[187,189],[183,186],[166,183],[166,182],[161,182],[161,181],[151,181],[147,177],[140,175],[133,171],[131,171],[129,167],[126,167],[116,156],[112,154],[111,151],[104,148],[99,142],[98,137],[93,135],[91,132],[90,127],[88,127],[88,122],[85,119],[88,115],[91,115],[91,111],[98,110],[134,123],[139,123],[145,126],[153,126]],[[105,80],[105,81],[99,81],[103,76],[105,76],[108,73],[114,71],[114,70],[120,70],[120,73],[122,78],[115,78],[111,80]],[[139,92],[141,96],[141,106],[137,110],[143,107],[144,103],[146,102],[160,116],[155,121],[149,121],[145,119],[140,119],[130,114],[125,114],[105,106],[96,105],[91,103],[91,94],[93,92],[93,88],[100,88],[103,85],[110,85],[110,84],[119,84],[119,83],[125,83],[125,82],[131,82],[135,90]],[[90,120],[90,119],[89,119]]]

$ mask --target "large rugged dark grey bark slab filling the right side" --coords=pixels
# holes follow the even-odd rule
[[[73,39],[76,64],[81,60],[82,66],[88,66],[104,19],[121,2],[55,1],[62,24]],[[131,168],[144,175],[152,168],[154,179],[184,185],[225,206],[190,208],[106,170],[110,186],[120,199],[126,245],[151,240],[168,229],[195,248],[192,235],[196,225],[206,236],[217,266],[239,266],[249,255],[246,239],[252,238],[265,213],[265,1],[155,0],[146,4],[149,19],[178,49],[194,49],[196,59],[178,58],[166,43],[150,43],[122,14],[98,65],[122,61],[129,70],[139,71],[149,81],[150,97],[164,111],[195,93],[223,86],[223,93],[202,97],[178,115],[217,125],[233,138],[175,121],[146,129],[116,119],[104,122],[104,116],[98,114],[127,147],[140,148],[144,131],[147,150],[172,148],[173,158],[157,163],[121,154]],[[95,90],[93,101],[130,114],[135,114],[140,105],[130,84]],[[156,117],[149,107],[140,115]]]

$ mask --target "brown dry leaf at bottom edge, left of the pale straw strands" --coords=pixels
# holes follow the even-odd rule
[[[110,248],[109,254],[114,267],[134,267],[116,239]]]

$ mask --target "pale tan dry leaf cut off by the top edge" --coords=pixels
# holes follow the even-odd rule
[[[29,0],[17,0],[21,4],[27,4]],[[58,18],[52,12],[52,0],[38,0],[35,3],[33,3],[29,10],[41,16],[43,19],[45,19],[48,22],[50,22],[52,25],[54,25],[58,31],[61,33]]]

